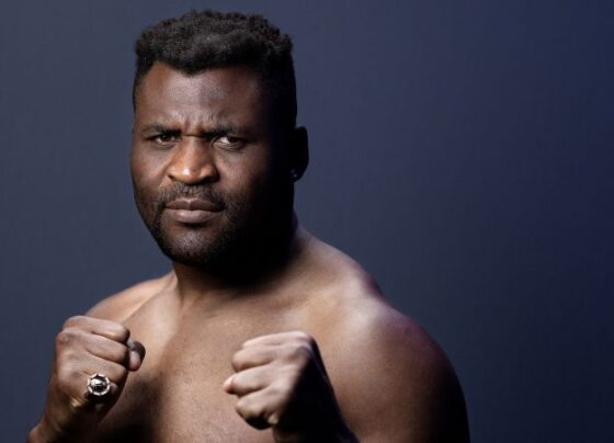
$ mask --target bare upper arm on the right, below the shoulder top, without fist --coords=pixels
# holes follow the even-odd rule
[[[345,337],[356,352],[331,374],[360,441],[469,442],[463,391],[440,347],[389,308],[361,322]]]

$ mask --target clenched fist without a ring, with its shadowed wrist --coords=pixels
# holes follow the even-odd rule
[[[276,442],[355,442],[343,418],[316,341],[305,332],[248,340],[224,383],[239,399],[237,412],[257,429],[273,428]]]

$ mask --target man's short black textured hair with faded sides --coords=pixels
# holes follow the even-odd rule
[[[263,81],[278,106],[280,122],[296,125],[296,80],[292,39],[258,14],[191,11],[145,29],[136,41],[136,89],[156,61],[187,75],[212,68],[248,66]]]

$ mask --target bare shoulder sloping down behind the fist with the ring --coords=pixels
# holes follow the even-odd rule
[[[163,291],[171,283],[172,279],[173,274],[171,272],[158,279],[137,283],[134,286],[102,299],[94,305],[87,315],[123,322],[149,298]]]

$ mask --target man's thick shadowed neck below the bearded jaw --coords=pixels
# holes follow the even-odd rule
[[[241,257],[224,263],[193,266],[173,262],[177,294],[183,303],[221,305],[255,294],[277,281],[296,262],[305,236],[296,216],[286,229],[259,238]]]

